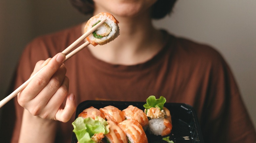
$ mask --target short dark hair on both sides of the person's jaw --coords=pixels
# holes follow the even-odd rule
[[[153,19],[161,19],[172,12],[174,4],[177,0],[158,0],[152,6],[151,17]],[[87,15],[94,11],[93,0],[70,0],[71,4],[81,13]]]

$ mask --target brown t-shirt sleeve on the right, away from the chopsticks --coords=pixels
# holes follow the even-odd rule
[[[256,142],[255,129],[235,78],[224,58],[218,52],[215,56],[200,119],[204,141]]]

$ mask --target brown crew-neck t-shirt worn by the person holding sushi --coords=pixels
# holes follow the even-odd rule
[[[36,38],[21,56],[15,89],[24,83],[37,61],[53,57],[81,36],[81,25]],[[253,124],[234,77],[213,48],[167,34],[168,42],[152,59],[132,66],[113,65],[85,48],[65,62],[69,91],[77,104],[85,100],[146,101],[150,95],[186,103],[197,112],[204,142],[256,142]],[[17,142],[23,108],[17,104],[12,142]],[[56,142],[70,143],[73,118],[59,123]]]

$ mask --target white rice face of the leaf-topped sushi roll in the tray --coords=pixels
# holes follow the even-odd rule
[[[165,125],[163,124],[163,119],[164,118],[150,119],[148,121],[149,133],[154,135],[161,135],[162,131],[165,129]]]

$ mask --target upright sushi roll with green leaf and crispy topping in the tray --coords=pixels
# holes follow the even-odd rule
[[[154,135],[169,135],[172,130],[172,120],[170,111],[163,105],[166,99],[160,96],[156,99],[155,96],[149,96],[147,103],[144,104],[144,112],[146,113],[148,121],[148,131]]]

